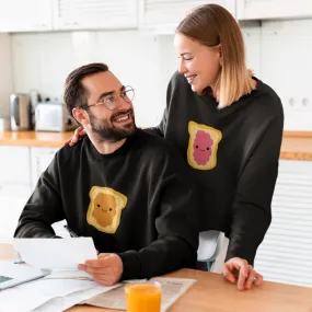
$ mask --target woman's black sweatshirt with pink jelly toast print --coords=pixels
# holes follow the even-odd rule
[[[199,193],[200,231],[226,232],[227,259],[238,256],[253,264],[271,220],[282,106],[259,80],[251,94],[226,108],[217,106],[176,72],[163,119],[148,131],[173,142],[189,164]]]

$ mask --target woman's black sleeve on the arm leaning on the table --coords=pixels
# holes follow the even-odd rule
[[[271,221],[271,198],[278,174],[284,117],[267,127],[241,174],[234,203],[226,261],[254,263],[258,245]]]

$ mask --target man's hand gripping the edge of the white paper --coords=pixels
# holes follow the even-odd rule
[[[104,286],[113,286],[122,278],[124,265],[116,254],[100,254],[97,259],[88,259],[78,265],[78,269],[89,273]]]

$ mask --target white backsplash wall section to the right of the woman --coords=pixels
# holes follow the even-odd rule
[[[312,20],[265,22],[262,78],[281,97],[285,128],[312,130]]]

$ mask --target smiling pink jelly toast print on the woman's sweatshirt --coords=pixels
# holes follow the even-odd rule
[[[187,162],[198,170],[211,170],[217,165],[218,145],[222,138],[221,131],[197,124],[188,123]]]

